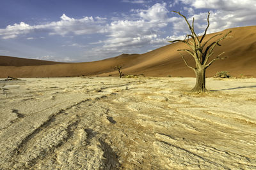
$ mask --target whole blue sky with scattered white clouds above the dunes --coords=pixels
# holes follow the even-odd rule
[[[1,0],[0,55],[84,62],[145,53],[198,34],[255,25],[256,0]]]

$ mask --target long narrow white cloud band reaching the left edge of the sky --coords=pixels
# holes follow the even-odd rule
[[[60,17],[58,22],[50,22],[42,25],[29,25],[24,22],[20,24],[8,25],[5,29],[0,29],[0,36],[3,39],[16,38],[20,34],[30,32],[49,32],[49,34],[58,34],[65,36],[67,34],[93,34],[106,32],[102,24],[106,18],[84,17],[81,19],[70,18],[65,13]]]

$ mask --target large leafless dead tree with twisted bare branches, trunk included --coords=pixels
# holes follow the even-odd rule
[[[169,42],[170,43],[181,42],[181,43],[185,43],[186,45],[189,46],[189,49],[179,49],[178,51],[187,52],[187,53],[189,53],[189,55],[191,55],[195,59],[195,63],[196,63],[195,67],[191,67],[188,65],[188,62],[186,62],[182,53],[180,53],[180,56],[184,60],[186,66],[188,66],[190,69],[193,69],[193,71],[195,71],[195,74],[196,74],[196,85],[191,91],[198,92],[198,93],[206,92],[207,89],[205,88],[205,70],[207,69],[207,67],[211,66],[211,64],[214,61],[220,60],[220,59],[225,59],[226,57],[220,57],[225,52],[220,53],[218,56],[214,57],[211,61],[209,61],[209,58],[213,55],[214,48],[216,47],[216,45],[220,46],[220,41],[222,41],[225,38],[231,38],[231,36],[228,36],[228,34],[230,34],[230,32],[232,32],[232,31],[228,31],[224,35],[222,33],[215,34],[211,38],[207,39],[207,41],[204,41],[207,29],[209,28],[209,25],[210,25],[210,22],[209,22],[210,13],[209,12],[208,12],[208,17],[207,17],[208,25],[204,31],[204,35],[201,38],[198,38],[198,35],[194,31],[195,18],[193,18],[192,25],[190,25],[187,18],[184,15],[182,15],[179,11],[173,11],[173,12],[178,13],[181,17],[183,17],[186,20],[186,23],[188,24],[191,34],[188,34],[186,36],[186,38],[184,38],[184,40],[178,39],[178,40],[169,41]],[[216,38],[217,36],[221,36],[221,35],[223,35],[221,38],[211,41],[212,39]],[[207,43],[209,43],[210,41],[211,41],[211,43],[209,45],[207,45]]]

